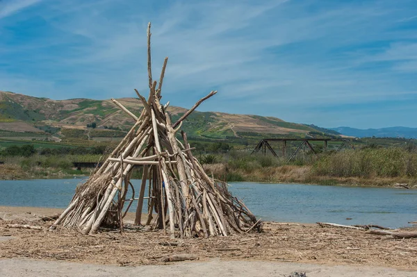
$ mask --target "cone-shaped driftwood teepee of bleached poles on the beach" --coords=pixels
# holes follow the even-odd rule
[[[166,230],[169,224],[171,237],[208,237],[230,235],[260,230],[261,224],[246,206],[231,196],[227,184],[207,176],[202,165],[193,157],[186,133],[181,132],[183,143],[176,134],[181,124],[202,101],[213,96],[213,91],[199,100],[177,122],[161,105],[161,87],[167,65],[162,67],[157,86],[152,80],[150,23],[147,31],[147,56],[149,74],[149,98],[138,94],[144,106],[136,117],[122,104],[112,99],[130,117],[135,119],[129,133],[116,147],[88,181],[77,187],[68,208],[51,228],[62,224],[67,228],[79,228],[83,233],[95,233],[100,226],[123,228],[123,217],[138,200],[135,224],[141,224],[145,189],[148,190],[148,215],[146,223]],[[142,167],[142,183],[135,199],[130,178],[135,165]],[[129,187],[133,197],[126,200]],[[129,205],[127,205],[129,203]],[[127,208],[124,206],[127,205]],[[152,221],[154,212],[156,219]]]

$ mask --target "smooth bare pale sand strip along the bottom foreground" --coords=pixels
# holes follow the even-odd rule
[[[178,262],[171,265],[85,265],[76,262],[7,259],[0,260],[0,276],[60,277],[60,276],[289,276],[294,271],[306,272],[307,277],[357,276],[417,276],[416,272],[384,267],[346,265],[311,265],[295,262],[259,262],[211,259],[207,262]]]

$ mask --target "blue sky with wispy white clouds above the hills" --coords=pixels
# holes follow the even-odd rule
[[[0,0],[0,90],[147,94],[324,127],[417,127],[417,1]]]

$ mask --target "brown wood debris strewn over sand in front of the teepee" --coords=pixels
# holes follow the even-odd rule
[[[131,219],[134,215],[129,213],[126,220]],[[317,224],[284,226],[265,222],[263,233],[175,240],[163,230],[127,229],[123,233],[83,235],[72,228],[57,228],[50,232],[47,230],[50,224],[42,220],[30,223],[42,227],[42,231],[7,228],[7,224],[28,222],[0,221],[0,237],[10,235],[15,238],[0,243],[0,258],[138,266],[161,265],[165,263],[163,257],[192,253],[200,261],[222,258],[417,270],[417,239],[395,239],[372,235],[367,230],[322,228]]]

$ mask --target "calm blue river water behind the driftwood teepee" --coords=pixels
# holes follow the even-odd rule
[[[0,181],[0,205],[66,208],[76,185],[83,181]],[[138,192],[140,181],[132,181]],[[391,228],[417,220],[417,190],[244,182],[231,183],[229,190],[263,220]]]

